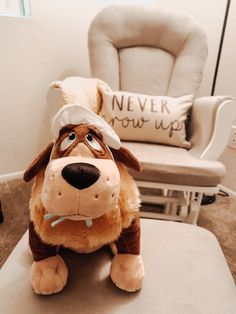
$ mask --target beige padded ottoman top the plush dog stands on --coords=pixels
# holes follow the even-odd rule
[[[139,293],[116,288],[109,278],[112,256],[102,249],[85,255],[64,252],[69,268],[65,289],[35,295],[26,233],[0,271],[0,313],[236,313],[233,278],[212,233],[157,220],[142,220],[141,228],[146,275]]]

